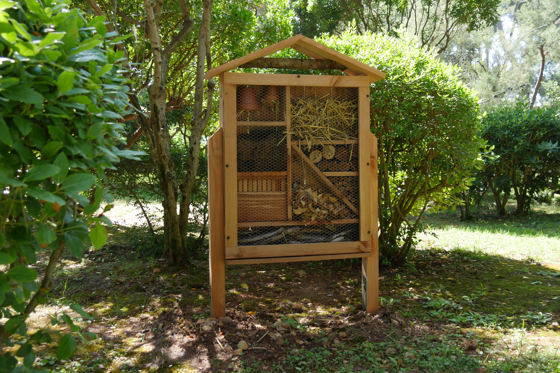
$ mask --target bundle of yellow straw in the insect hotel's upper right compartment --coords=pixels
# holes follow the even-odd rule
[[[330,97],[298,98],[292,103],[291,131],[294,140],[322,143],[328,140],[356,140],[358,104]]]

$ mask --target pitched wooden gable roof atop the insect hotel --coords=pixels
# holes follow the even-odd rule
[[[347,67],[347,70],[344,72],[347,75],[359,76],[365,75],[369,77],[370,83],[376,82],[378,80],[385,78],[385,73],[366,65],[360,61],[357,61],[353,58],[350,58],[340,52],[335,51],[321,43],[316,42],[313,39],[307,38],[303,35],[296,35],[283,40],[279,43],[269,45],[266,48],[260,49],[256,52],[248,54],[246,56],[240,57],[236,60],[227,62],[223,65],[215,67],[211,70],[208,70],[204,78],[210,79],[216,75],[219,75],[223,72],[233,70],[249,61],[252,61],[257,58],[265,57],[270,54],[273,54],[279,50],[286,49],[286,48],[293,48],[296,51],[305,54],[311,58],[315,59],[329,59],[335,62],[340,63]]]

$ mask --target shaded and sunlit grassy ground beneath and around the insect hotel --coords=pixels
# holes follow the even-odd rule
[[[208,264],[171,267],[122,211],[111,242],[66,257],[53,296],[97,334],[55,372],[560,372],[560,208],[478,220],[428,214],[403,268],[382,268],[381,310],[361,311],[359,261],[227,267],[227,314],[209,315]],[[128,219],[128,220],[127,220]],[[44,260],[44,258],[43,258]],[[33,315],[43,327],[48,306]],[[57,328],[59,328],[57,326]],[[243,350],[240,350],[243,347]],[[247,347],[245,349],[245,347]]]

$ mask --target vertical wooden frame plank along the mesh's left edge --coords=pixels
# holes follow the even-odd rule
[[[224,174],[226,247],[237,246],[237,120],[236,87],[224,84]],[[255,190],[254,186],[251,190]]]

